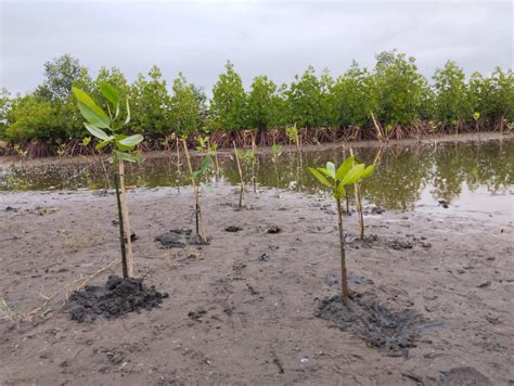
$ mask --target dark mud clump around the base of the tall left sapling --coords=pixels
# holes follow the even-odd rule
[[[69,318],[79,323],[93,322],[97,316],[115,319],[157,307],[167,297],[168,294],[159,293],[153,285],[143,285],[142,279],[111,275],[104,286],[87,285],[70,295]]]

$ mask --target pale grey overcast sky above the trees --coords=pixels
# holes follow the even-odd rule
[[[208,91],[230,59],[245,87],[259,74],[291,81],[311,64],[344,73],[398,49],[431,76],[448,59],[467,74],[512,68],[511,1],[1,1],[1,86],[33,90],[64,53],[91,74],[131,81],[158,65]]]

